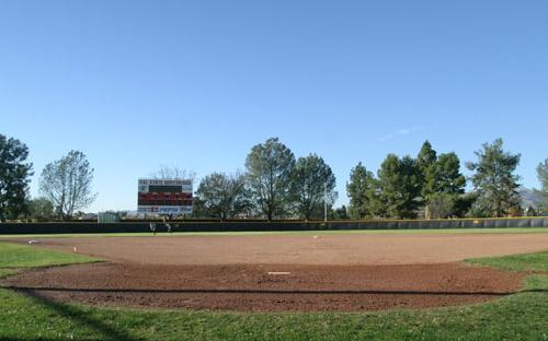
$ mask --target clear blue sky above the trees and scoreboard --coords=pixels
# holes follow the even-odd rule
[[[0,133],[36,175],[76,149],[90,210],[136,209],[161,164],[243,169],[279,137],[349,173],[425,139],[548,157],[547,1],[0,1]],[[464,168],[464,167],[463,167]],[[465,170],[465,169],[464,169]],[[465,172],[466,173],[466,172]]]

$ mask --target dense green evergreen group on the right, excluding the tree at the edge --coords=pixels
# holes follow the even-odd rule
[[[416,157],[388,154],[377,172],[358,163],[346,186],[350,215],[354,219],[445,219],[507,216],[522,211],[520,177],[515,169],[520,154],[503,150],[503,141],[486,143],[477,161],[466,167],[473,189],[465,192],[467,179],[454,152],[437,154],[425,141]]]

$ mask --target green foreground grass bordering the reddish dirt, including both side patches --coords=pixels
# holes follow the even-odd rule
[[[39,251],[39,257],[36,252]],[[0,263],[94,261],[0,243]],[[4,260],[10,259],[9,262]],[[548,251],[472,263],[545,271]],[[548,340],[548,275],[491,303],[385,313],[210,313],[59,304],[0,289],[0,340]]]

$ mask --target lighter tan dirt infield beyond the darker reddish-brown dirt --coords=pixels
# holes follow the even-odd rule
[[[320,235],[318,238],[164,234],[42,242],[38,247],[70,252],[76,247],[79,254],[140,264],[430,264],[548,249],[548,233]]]

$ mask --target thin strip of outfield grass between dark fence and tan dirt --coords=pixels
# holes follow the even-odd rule
[[[249,232],[175,232],[175,236],[254,236],[254,235],[355,235],[355,234],[507,234],[548,233],[548,227],[504,227],[504,228],[424,228],[424,230],[317,230],[317,231],[249,231]],[[82,234],[35,234],[2,235],[10,238],[77,238],[77,237],[150,237],[152,233],[82,233]],[[157,236],[170,236],[158,232]]]

